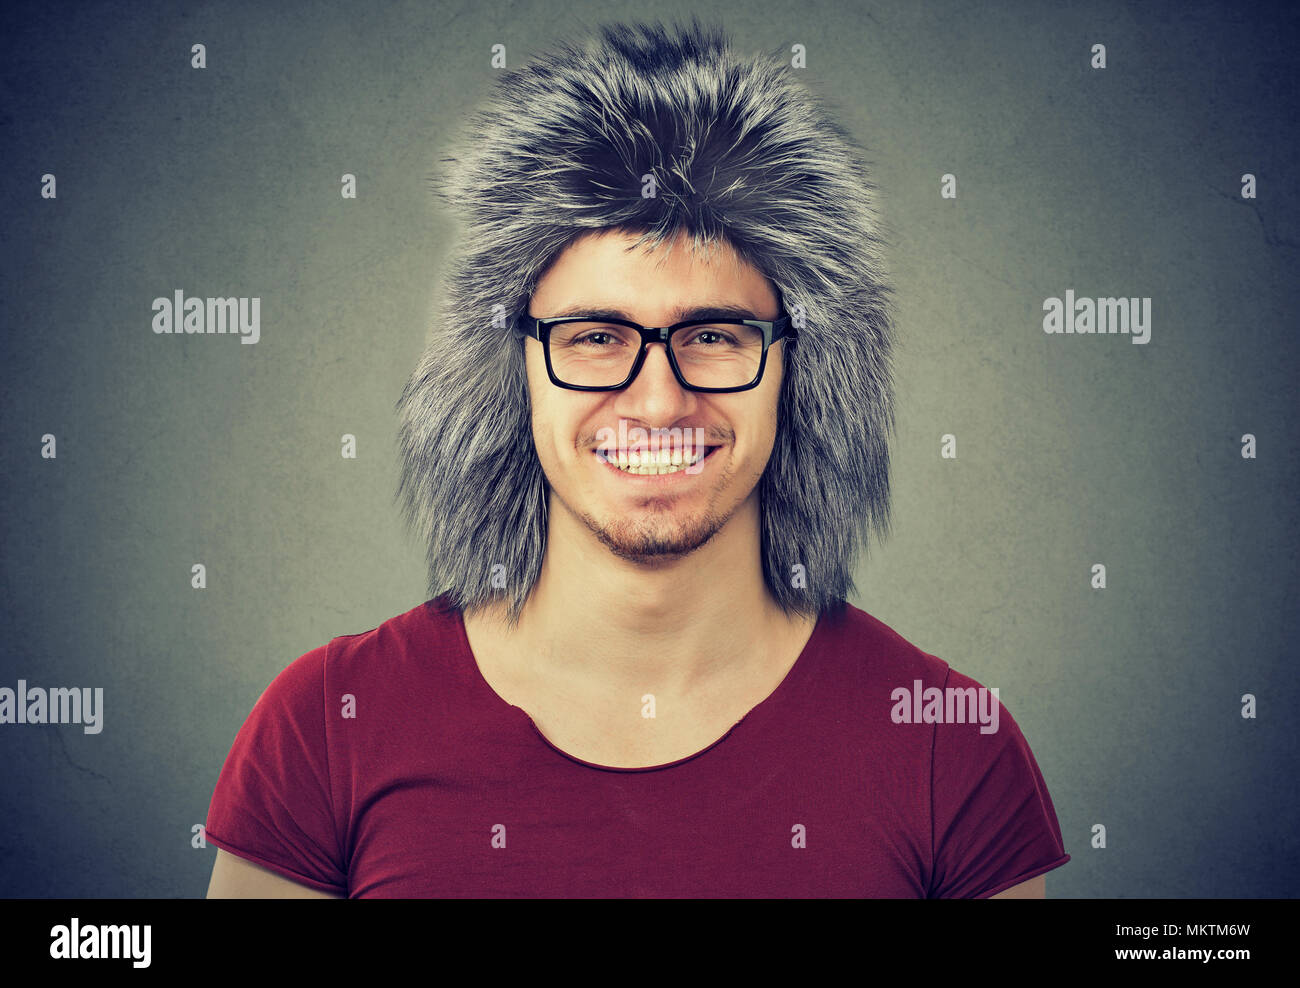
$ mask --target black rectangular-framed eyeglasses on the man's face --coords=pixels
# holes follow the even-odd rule
[[[515,332],[541,341],[551,384],[571,391],[619,391],[640,373],[650,343],[663,343],[677,384],[688,391],[748,391],[763,380],[767,350],[798,338],[784,306],[775,320],[710,318],[662,329],[623,318],[526,313]]]

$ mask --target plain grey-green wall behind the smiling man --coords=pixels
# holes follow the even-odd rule
[[[1295,12],[465,1],[10,5],[0,685],[105,718],[0,725],[0,894],[204,894],[191,827],[259,693],[425,597],[393,407],[456,235],[425,176],[491,46],[693,12],[806,46],[875,164],[894,534],[853,602],[1001,688],[1074,855],[1049,894],[1296,893]],[[261,341],[155,335],[176,289],[260,296]],[[1067,289],[1150,296],[1150,342],[1044,334]]]

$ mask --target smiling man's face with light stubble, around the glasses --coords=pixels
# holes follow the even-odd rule
[[[686,318],[681,309],[705,306],[731,306],[763,320],[779,315],[771,282],[728,244],[693,255],[689,237],[681,235],[671,250],[666,242],[628,252],[636,239],[603,230],[572,243],[538,282],[529,315],[620,309],[644,326],[672,325]],[[733,394],[684,389],[662,343],[647,347],[628,387],[590,393],[556,387],[546,374],[542,343],[526,339],[525,347],[533,439],[550,484],[552,524],[555,512],[566,512],[610,551],[645,564],[694,551],[737,514],[757,529],[758,481],[776,438],[784,341],[768,348],[758,386]],[[607,456],[621,463],[620,452],[644,447],[637,429],[702,438],[707,454],[689,469],[625,472]],[[651,433],[672,429],[680,432]]]

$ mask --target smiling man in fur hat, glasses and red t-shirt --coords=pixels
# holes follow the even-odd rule
[[[845,602],[892,426],[848,138],[698,23],[507,73],[474,135],[402,398],[433,599],[263,694],[209,896],[1041,897],[1014,720]]]

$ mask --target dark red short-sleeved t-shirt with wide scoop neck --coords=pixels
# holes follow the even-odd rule
[[[274,679],[207,838],[354,898],[987,897],[1067,862],[1006,708],[897,723],[918,680],[980,685],[846,604],[708,748],[610,768],[551,745],[426,601]]]

